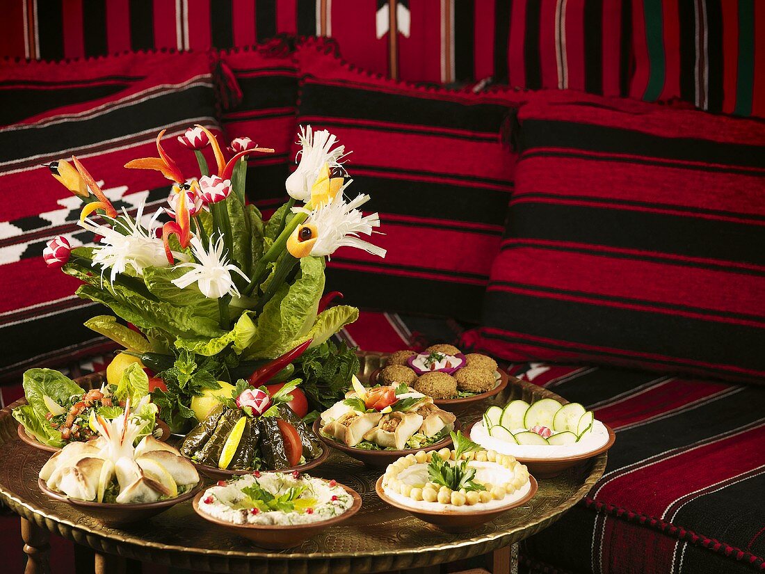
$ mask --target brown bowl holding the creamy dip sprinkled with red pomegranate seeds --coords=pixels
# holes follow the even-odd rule
[[[343,520],[347,520],[360,510],[361,497],[359,494],[354,491],[353,488],[349,488],[345,484],[340,484],[338,482],[337,486],[345,489],[345,491],[353,497],[353,506],[339,516],[310,524],[233,524],[225,522],[224,520],[219,520],[216,517],[205,514],[199,509],[199,501],[202,498],[204,491],[201,491],[194,497],[192,505],[194,506],[194,511],[204,520],[217,524],[218,526],[229,530],[229,532],[238,534],[243,538],[252,540],[252,542],[262,548],[267,548],[269,550],[284,550],[285,548],[298,546],[303,540],[315,536],[327,527],[334,526],[337,523],[343,522]]]

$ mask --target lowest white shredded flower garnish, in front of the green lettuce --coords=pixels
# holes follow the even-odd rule
[[[176,267],[188,267],[191,270],[184,275],[173,279],[173,285],[178,289],[186,289],[192,283],[197,283],[200,292],[207,298],[221,298],[223,295],[239,297],[239,289],[234,285],[231,273],[239,273],[246,281],[249,277],[236,265],[228,263],[223,253],[223,237],[213,243],[210,237],[210,249],[205,250],[198,237],[191,238],[191,250],[199,263],[179,263]]]

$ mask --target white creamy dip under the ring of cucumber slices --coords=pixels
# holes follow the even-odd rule
[[[514,429],[513,434],[528,429]],[[555,435],[557,433],[553,433]],[[491,436],[483,421],[475,423],[470,429],[470,439],[483,448],[491,448],[503,455],[513,455],[516,458],[565,458],[567,456],[586,455],[596,451],[608,442],[608,430],[599,420],[592,422],[591,432],[586,433],[577,442],[570,445],[517,445],[515,443]]]

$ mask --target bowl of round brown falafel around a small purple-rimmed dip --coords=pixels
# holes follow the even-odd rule
[[[463,354],[451,344],[431,345],[420,353],[396,351],[370,377],[372,384],[411,386],[452,412],[501,393],[507,380],[492,357]]]

